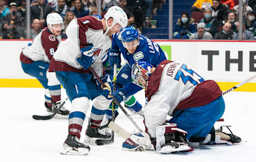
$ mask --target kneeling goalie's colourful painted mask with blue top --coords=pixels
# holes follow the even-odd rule
[[[146,87],[148,78],[151,75],[151,64],[146,61],[137,61],[132,66],[132,79],[135,84]]]

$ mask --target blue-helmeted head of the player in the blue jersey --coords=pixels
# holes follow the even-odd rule
[[[139,38],[139,33],[133,26],[125,27],[121,31],[121,40],[123,46],[130,54],[133,54],[137,47],[140,45]]]

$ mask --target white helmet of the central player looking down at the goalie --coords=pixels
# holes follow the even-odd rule
[[[108,30],[111,29],[116,23],[119,23],[123,28],[125,28],[128,24],[128,18],[126,13],[124,12],[121,7],[118,6],[112,6],[108,9],[107,13],[104,15],[104,18],[106,19],[106,26],[107,30],[106,33],[108,33]],[[113,24],[111,27],[108,27],[108,19],[113,18]]]

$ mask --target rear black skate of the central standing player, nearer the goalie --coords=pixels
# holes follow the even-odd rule
[[[92,124],[92,121],[89,120],[89,124],[87,126],[86,132],[85,132],[85,143],[91,143],[95,140],[109,140],[111,139],[111,134],[102,131],[99,127],[94,126]]]

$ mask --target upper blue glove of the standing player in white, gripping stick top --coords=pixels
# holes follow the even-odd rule
[[[119,50],[115,50],[110,48],[109,51],[109,66],[114,69],[114,64],[116,63],[117,69],[121,68],[121,52]]]

